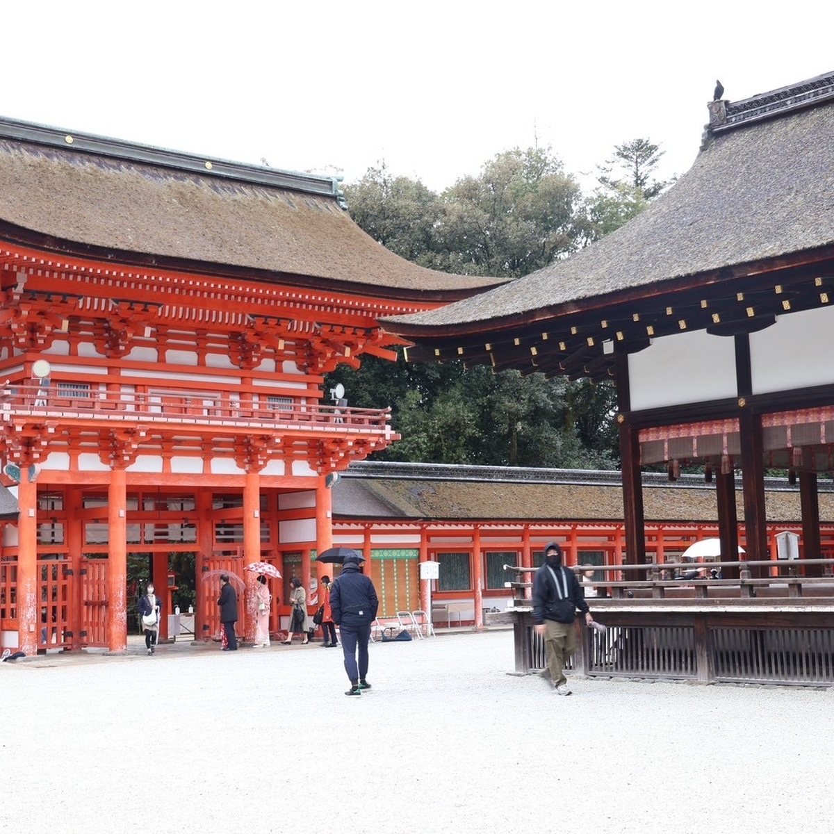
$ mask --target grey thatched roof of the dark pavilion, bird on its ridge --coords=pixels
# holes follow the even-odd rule
[[[724,104],[724,103],[721,103]],[[427,313],[409,338],[600,309],[834,254],[834,73],[731,103],[691,170],[642,214],[570,259]],[[731,273],[728,271],[731,269]]]

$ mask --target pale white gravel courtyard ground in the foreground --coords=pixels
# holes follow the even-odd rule
[[[512,634],[0,665],[0,831],[831,831],[834,691],[507,674]]]

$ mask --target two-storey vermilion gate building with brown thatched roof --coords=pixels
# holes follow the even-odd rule
[[[500,283],[391,254],[330,177],[2,119],[0,189],[0,630],[26,654],[123,651],[136,555],[163,600],[193,555],[203,639],[224,571],[309,587],[329,478],[398,436],[323,374]]]

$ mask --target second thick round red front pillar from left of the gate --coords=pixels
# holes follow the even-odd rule
[[[110,651],[128,648],[128,475],[123,467],[110,471],[108,487],[108,610]]]

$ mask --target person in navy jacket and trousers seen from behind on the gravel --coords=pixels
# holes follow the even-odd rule
[[[359,553],[345,556],[342,572],[330,587],[330,611],[342,636],[344,671],[350,681],[345,695],[361,695],[363,690],[370,689],[368,641],[379,599],[374,583],[362,573],[362,562],[364,556]]]

